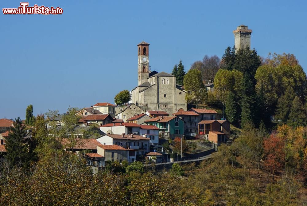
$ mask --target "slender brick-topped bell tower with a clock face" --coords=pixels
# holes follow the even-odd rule
[[[148,82],[149,77],[149,44],[138,44],[138,85]]]

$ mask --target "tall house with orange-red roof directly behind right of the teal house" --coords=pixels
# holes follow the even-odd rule
[[[185,121],[185,135],[195,137],[198,133],[199,114],[193,111],[178,111],[172,115],[179,117]]]

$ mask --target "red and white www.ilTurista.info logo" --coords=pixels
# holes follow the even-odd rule
[[[3,14],[63,14],[63,9],[60,7],[54,8],[53,6],[29,6],[29,2],[20,2],[20,6],[15,9],[2,9]]]

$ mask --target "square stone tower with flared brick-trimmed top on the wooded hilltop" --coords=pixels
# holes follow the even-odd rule
[[[244,49],[246,46],[251,48],[251,29],[241,24],[232,33],[235,35],[235,48],[237,50]]]

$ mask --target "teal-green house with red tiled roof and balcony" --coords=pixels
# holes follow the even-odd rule
[[[184,135],[185,122],[179,117],[155,117],[145,122],[159,128],[159,137],[162,139],[174,139]]]

